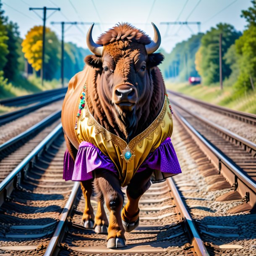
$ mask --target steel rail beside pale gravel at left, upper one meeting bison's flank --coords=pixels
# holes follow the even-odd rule
[[[60,118],[61,110],[57,110],[56,112],[52,113],[51,115],[48,115],[46,118],[38,122],[37,124],[31,126],[26,131],[18,134],[17,136],[11,138],[10,140],[4,142],[0,145],[0,154],[2,154],[5,150],[9,149],[10,146],[13,144],[18,143],[19,141],[23,140],[24,138],[29,137],[31,134],[35,133],[36,131],[44,128],[46,125],[51,123],[52,121],[55,121],[57,118]],[[0,155],[0,159],[3,157]]]

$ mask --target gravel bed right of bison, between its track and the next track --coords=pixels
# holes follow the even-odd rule
[[[256,255],[256,231],[253,229],[256,214],[248,211],[230,213],[234,207],[244,204],[244,200],[237,195],[236,200],[220,201],[227,193],[235,193],[233,188],[218,174],[219,170],[182,125],[177,120],[174,125],[172,141],[183,171],[174,180],[191,216],[196,220],[209,254]],[[216,183],[225,184],[226,188],[220,189]]]

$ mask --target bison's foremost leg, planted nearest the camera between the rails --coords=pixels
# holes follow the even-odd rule
[[[108,226],[107,248],[119,248],[125,246],[125,230],[121,219],[123,206],[123,193],[118,178],[107,171],[98,171],[96,182],[104,196],[107,209],[110,211],[110,222]]]

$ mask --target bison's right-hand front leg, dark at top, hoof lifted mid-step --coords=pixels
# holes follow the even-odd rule
[[[152,172],[153,170],[145,170],[136,173],[127,186],[126,194],[128,202],[122,210],[123,227],[126,232],[131,232],[138,227],[140,212],[138,202],[151,185],[150,177]]]

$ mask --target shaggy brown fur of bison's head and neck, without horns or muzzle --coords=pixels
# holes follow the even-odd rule
[[[159,68],[156,67],[163,57],[160,54],[146,55],[144,44],[150,41],[144,32],[129,24],[120,24],[100,36],[97,43],[105,45],[102,58],[90,55],[85,59],[91,66],[91,80],[87,81],[86,91],[90,112],[104,128],[127,141],[153,122],[164,100],[165,85]],[[144,55],[147,62],[145,83],[138,81],[134,71],[134,60],[138,55]],[[104,71],[100,64],[104,63],[105,56],[110,56],[113,60],[112,80],[102,79]],[[121,80],[123,83],[138,84],[141,95],[133,112],[122,113],[111,102],[112,86]],[[104,83],[109,84],[107,89],[102,86]]]

